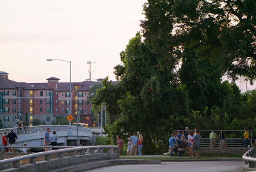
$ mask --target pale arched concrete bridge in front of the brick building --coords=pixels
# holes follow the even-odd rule
[[[17,134],[18,139],[16,145],[44,145],[44,133],[47,129],[50,129],[50,135],[52,131],[56,131],[58,136],[58,145],[71,145],[72,142],[77,141],[77,135],[80,143],[92,140],[92,129],[68,125],[39,125],[39,126],[29,126],[22,127],[21,130],[17,128],[1,129],[0,134],[3,136],[4,132],[9,133],[13,130]],[[78,134],[77,134],[78,132]],[[0,141],[2,144],[2,139]]]

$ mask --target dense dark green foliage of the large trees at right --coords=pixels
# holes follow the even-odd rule
[[[256,91],[222,81],[256,75],[256,1],[148,0],[136,33],[92,98],[106,104],[112,144],[143,135],[143,154],[163,153],[172,130],[256,129]],[[250,62],[250,65],[249,65]],[[93,111],[94,111],[93,110]]]

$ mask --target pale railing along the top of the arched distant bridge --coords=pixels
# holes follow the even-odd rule
[[[0,134],[3,135],[4,132],[10,132],[10,130],[13,130],[15,134],[31,134],[31,133],[38,133],[38,132],[46,132],[47,129],[50,129],[51,131],[61,132],[64,130],[70,129],[69,125],[38,125],[38,126],[28,126],[28,127],[13,127],[9,129],[1,129]],[[77,131],[76,126],[71,126],[72,132]],[[92,132],[89,128],[84,127],[78,127],[79,132]]]

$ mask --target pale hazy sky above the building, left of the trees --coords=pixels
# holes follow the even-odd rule
[[[146,0],[1,0],[0,71],[17,82],[72,82],[109,76],[119,53],[141,30]]]

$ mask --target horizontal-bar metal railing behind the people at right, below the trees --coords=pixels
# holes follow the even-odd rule
[[[186,130],[179,130],[179,131],[181,133],[186,132]],[[191,130],[188,130],[188,131],[191,131]],[[200,140],[200,146],[201,147],[205,147],[205,148],[211,147],[211,139],[209,139],[209,134],[212,131],[216,132],[217,136],[220,134],[220,132],[223,132],[225,134],[225,139],[222,138],[221,134],[220,134],[220,138],[215,139],[216,147],[220,147],[220,148],[225,148],[225,147],[241,148],[241,147],[244,147],[244,139],[242,138],[243,134],[244,134],[244,130],[200,130],[200,135],[202,136],[202,139]],[[178,132],[178,130],[173,130],[172,133],[175,134],[175,132]],[[255,143],[255,139],[253,139],[253,136],[256,136],[256,130],[248,130],[248,132],[250,133],[249,145],[252,148],[253,143]],[[234,137],[234,136],[229,137],[230,134],[237,135],[237,137]],[[180,139],[180,140],[186,140],[186,139]],[[221,142],[222,140],[224,140],[224,142]]]

